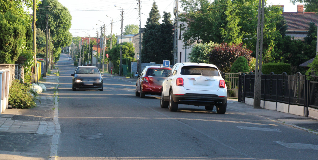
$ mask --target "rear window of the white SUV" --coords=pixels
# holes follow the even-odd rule
[[[218,69],[209,66],[184,66],[181,68],[182,75],[220,76]]]

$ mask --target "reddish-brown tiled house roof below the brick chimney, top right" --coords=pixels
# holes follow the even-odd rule
[[[315,12],[283,12],[282,16],[287,23],[287,30],[309,30],[309,23],[317,26],[318,15]]]

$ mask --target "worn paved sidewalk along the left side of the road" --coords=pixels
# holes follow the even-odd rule
[[[46,91],[38,95],[32,109],[6,109],[0,115],[0,159],[49,159],[54,158],[53,141],[60,133],[57,121],[58,70],[39,80]]]

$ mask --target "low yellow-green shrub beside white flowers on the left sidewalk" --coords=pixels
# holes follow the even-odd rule
[[[31,85],[28,83],[19,83],[17,80],[12,81],[9,89],[9,104],[19,109],[35,107],[35,96],[37,93],[30,90],[30,87]]]

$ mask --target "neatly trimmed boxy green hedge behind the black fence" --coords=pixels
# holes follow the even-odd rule
[[[275,74],[282,74],[283,72],[291,74],[292,69],[291,65],[287,63],[265,63],[262,65],[263,74],[270,74],[271,72]]]

